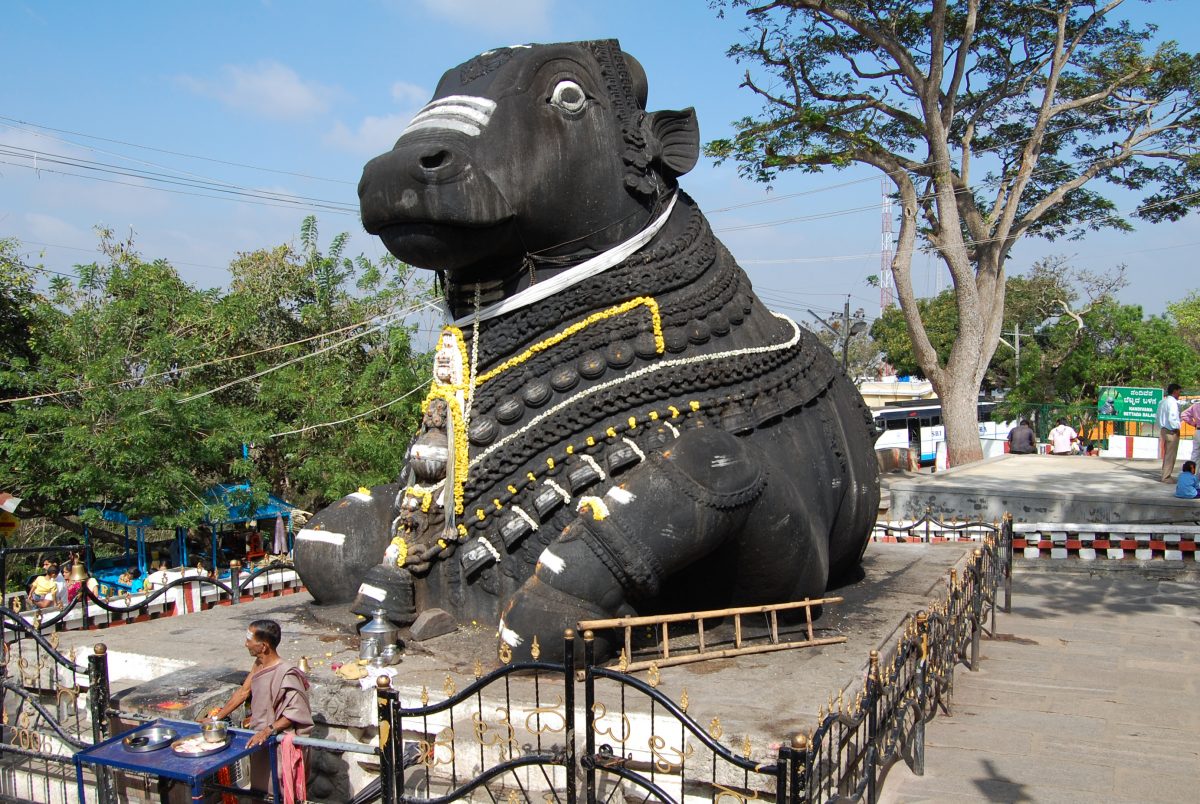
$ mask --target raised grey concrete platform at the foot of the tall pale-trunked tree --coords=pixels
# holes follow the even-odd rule
[[[1200,500],[1158,480],[1162,463],[1094,456],[1001,455],[935,474],[890,474],[893,520],[935,516],[1018,522],[1200,523]],[[1176,467],[1177,470],[1178,467]]]

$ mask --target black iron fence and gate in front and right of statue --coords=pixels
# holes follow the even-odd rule
[[[719,719],[707,725],[696,720],[688,713],[686,692],[672,701],[659,689],[656,666],[644,680],[601,667],[592,635],[584,632],[582,671],[575,679],[583,683],[576,763],[575,635],[568,632],[564,664],[505,664],[461,692],[448,686],[446,698],[434,704],[422,690],[420,707],[402,707],[400,694],[382,677],[379,797],[385,804],[434,804],[473,794],[492,802],[574,802],[577,793],[589,803],[695,796],[714,802],[877,800],[895,762],[924,773],[925,724],[938,709],[949,712],[958,666],[978,667],[979,640],[995,634],[998,594],[1004,590],[1007,611],[1012,590],[1010,517],[941,527],[922,520],[894,530],[910,541],[970,539],[978,546],[961,570],[950,571],[944,599],[912,613],[894,648],[871,652],[862,685],[830,698],[814,728],[774,755],[752,751],[749,737],[730,742]],[[943,530],[946,536],[932,535]],[[548,706],[547,683],[554,690]],[[532,707],[514,703],[514,685],[522,688],[517,700],[532,700]]]

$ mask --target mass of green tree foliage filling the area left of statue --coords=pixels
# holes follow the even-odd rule
[[[44,296],[28,277],[5,283],[25,328],[4,332],[2,398],[41,395],[0,403],[0,488],[23,508],[101,503],[194,524],[217,481],[316,510],[395,478],[419,414],[409,392],[426,379],[397,316],[427,293],[413,269],[346,258],[344,235],[323,253],[307,218],[299,253],[239,254],[227,292],[199,290],[100,234],[106,259],[77,266],[78,281]]]

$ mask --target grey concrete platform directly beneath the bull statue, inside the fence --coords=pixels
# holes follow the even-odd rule
[[[949,569],[961,565],[972,547],[872,544],[863,578],[830,590],[845,602],[827,606],[816,622],[818,636],[842,635],[845,643],[667,667],[660,671],[659,689],[676,701],[686,690],[690,715],[701,724],[719,718],[731,744],[740,748],[743,736],[749,736],[755,758],[770,761],[781,740],[816,725],[817,709],[830,696],[857,689],[869,653],[894,647],[896,630],[910,612],[944,596]],[[96,642],[108,646],[114,688],[125,688],[118,698],[124,710],[190,719],[226,701],[251,664],[242,647],[247,624],[272,618],[283,628],[280,653],[290,660],[310,658],[313,709],[326,724],[314,736],[368,742],[374,733],[376,696],[330,670],[331,662],[356,659],[356,638],[318,622],[311,608],[308,596],[296,594],[221,606],[187,618],[62,632],[60,646],[76,647],[79,655]],[[712,644],[721,634],[707,636]],[[446,697],[448,679],[458,690],[474,680],[476,660],[485,671],[498,666],[491,629],[468,626],[428,642],[410,642],[394,684],[404,706],[420,706],[422,688],[437,702]],[[522,683],[528,679],[512,680],[514,702],[528,692]],[[581,694],[580,701],[582,706]]]

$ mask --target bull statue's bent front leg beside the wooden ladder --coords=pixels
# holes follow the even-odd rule
[[[534,575],[510,599],[500,638],[514,655],[528,658],[536,637],[542,659],[558,660],[564,629],[586,619],[644,613],[638,604],[659,599],[672,576],[726,546],[732,562],[762,565],[742,570],[778,578],[778,554],[766,550],[750,557],[734,544],[761,518],[764,502],[774,502],[767,493],[763,457],[745,439],[712,428],[686,431],[649,452],[601,498],[583,500],[580,515],[546,547]],[[794,548],[794,533],[779,535]],[[815,575],[823,583],[823,552],[811,559],[820,564]],[[788,599],[799,581],[779,578],[758,592]],[[596,636],[598,652],[610,653],[607,635]]]

